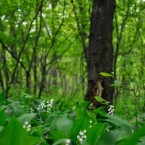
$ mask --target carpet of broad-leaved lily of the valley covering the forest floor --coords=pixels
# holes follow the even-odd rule
[[[2,96],[2,94],[1,94]],[[29,95],[15,101],[0,101],[0,144],[5,145],[143,145],[143,116],[137,129],[103,109],[87,110],[87,102],[68,106],[67,102],[35,99]]]

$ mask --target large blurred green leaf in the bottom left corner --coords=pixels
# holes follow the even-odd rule
[[[12,118],[0,133],[1,145],[34,145],[38,142],[44,141],[41,138],[29,136],[15,118]]]

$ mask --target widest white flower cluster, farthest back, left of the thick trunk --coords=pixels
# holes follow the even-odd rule
[[[53,104],[54,104],[53,99],[51,99],[50,101],[41,101],[38,106],[38,110],[46,109],[47,111],[50,111],[53,107]]]

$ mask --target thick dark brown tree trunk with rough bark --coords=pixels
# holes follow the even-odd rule
[[[89,49],[87,56],[88,88],[85,99],[95,107],[101,104],[95,96],[100,96],[112,103],[113,88],[110,86],[113,79],[102,77],[100,72],[113,71],[113,15],[115,0],[93,0]]]

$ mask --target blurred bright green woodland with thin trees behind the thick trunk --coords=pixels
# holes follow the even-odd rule
[[[83,100],[92,1],[1,0],[0,7],[0,91]],[[143,0],[117,1],[112,85],[118,113],[129,117],[145,109],[144,15]]]

